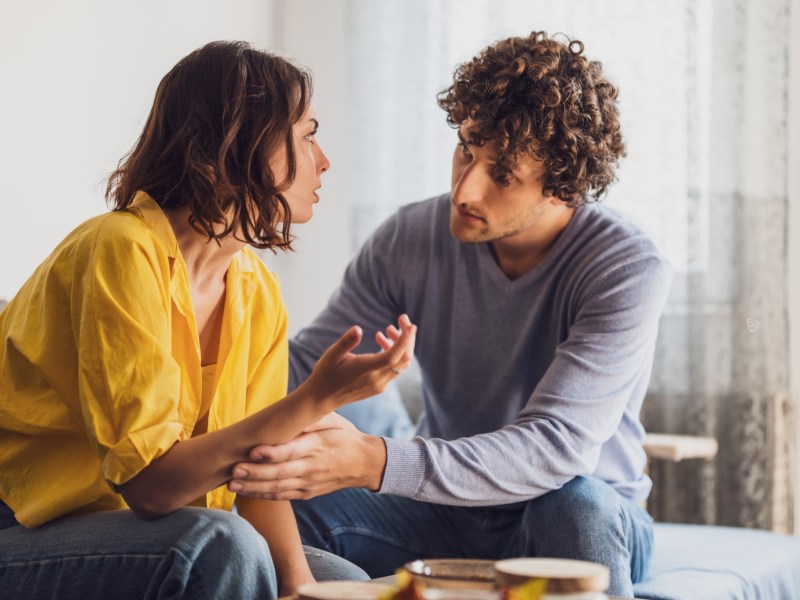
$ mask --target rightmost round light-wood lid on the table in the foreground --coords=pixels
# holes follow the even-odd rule
[[[610,583],[608,567],[566,558],[510,558],[494,564],[501,588],[515,587],[531,579],[546,579],[547,592],[604,592]]]

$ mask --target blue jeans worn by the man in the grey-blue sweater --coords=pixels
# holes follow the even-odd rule
[[[589,560],[611,570],[610,594],[633,596],[647,574],[653,520],[593,477],[522,506],[465,508],[366,490],[293,503],[304,544],[389,575],[418,558],[548,556]]]

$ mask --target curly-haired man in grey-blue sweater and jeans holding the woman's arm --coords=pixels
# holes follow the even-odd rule
[[[386,221],[291,343],[297,385],[351,322],[408,313],[418,437],[331,417],[254,449],[261,464],[238,481],[314,498],[295,502],[304,542],[372,576],[420,557],[591,560],[610,568],[610,592],[633,595],[652,545],[639,412],[671,276],[644,234],[592,202],[624,151],[616,97],[582,43],[541,32],[456,71],[439,97],[458,129],[451,193]]]

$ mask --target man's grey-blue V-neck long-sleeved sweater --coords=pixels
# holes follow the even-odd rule
[[[353,323],[408,313],[424,414],[386,439],[380,492],[462,506],[511,504],[593,475],[640,501],[639,412],[671,270],[653,243],[597,204],[575,211],[544,260],[510,281],[488,244],[449,231],[450,197],[410,204],[347,268],[328,307],[290,342],[290,386]]]

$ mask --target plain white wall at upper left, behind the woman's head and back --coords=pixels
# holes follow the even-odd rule
[[[272,0],[3,0],[0,298],[106,210],[161,77],[215,39],[271,43]]]

